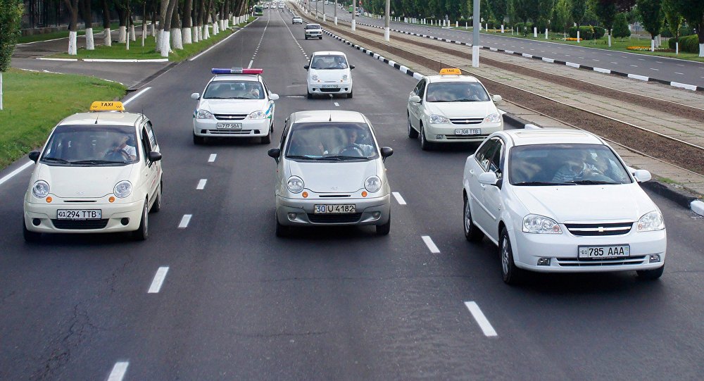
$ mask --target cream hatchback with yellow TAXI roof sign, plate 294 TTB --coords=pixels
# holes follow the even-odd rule
[[[161,153],[149,119],[120,102],[61,120],[42,151],[25,193],[27,242],[42,233],[133,232],[149,236],[149,211],[162,203]]]

